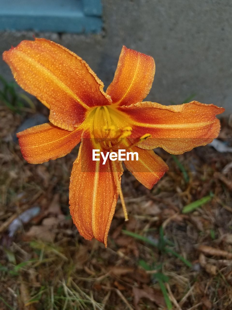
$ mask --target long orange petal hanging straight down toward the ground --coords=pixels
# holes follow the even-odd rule
[[[85,239],[91,240],[94,237],[106,246],[118,199],[116,178],[121,182],[123,169],[118,161],[107,160],[105,165],[102,165],[102,158],[100,161],[92,161],[92,149],[101,150],[93,139],[82,139],[71,173],[70,213]]]

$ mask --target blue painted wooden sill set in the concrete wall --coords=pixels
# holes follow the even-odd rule
[[[91,15],[82,0],[0,0],[0,30],[100,32],[98,2]]]

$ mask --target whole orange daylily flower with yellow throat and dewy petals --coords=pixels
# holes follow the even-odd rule
[[[22,41],[5,51],[3,59],[15,80],[50,109],[49,123],[19,132],[19,145],[29,163],[65,156],[81,141],[70,181],[70,212],[79,233],[107,244],[107,235],[120,195],[122,162],[92,161],[92,149],[127,149],[138,161],[125,166],[151,189],[168,170],[153,148],[181,154],[217,137],[224,111],[192,101],[164,106],[142,100],[152,86],[151,56],[122,47],[113,82],[103,83],[79,56],[52,41]]]

